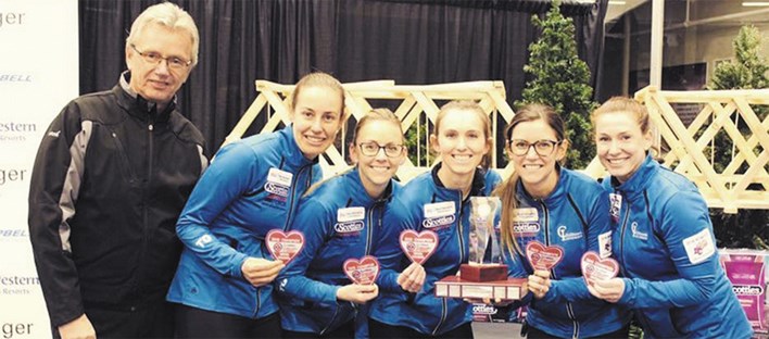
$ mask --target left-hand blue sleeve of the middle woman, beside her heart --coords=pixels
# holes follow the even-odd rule
[[[401,286],[398,285],[398,276],[405,268],[401,263],[406,258],[401,249],[401,231],[413,223],[413,221],[409,221],[411,217],[408,217],[411,213],[405,213],[407,211],[400,201],[393,201],[388,206],[382,219],[384,231],[373,253],[381,265],[381,272],[377,278],[377,285],[381,291],[405,293]]]

